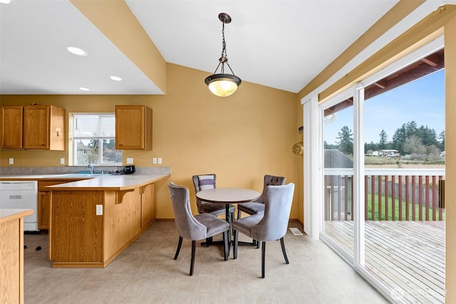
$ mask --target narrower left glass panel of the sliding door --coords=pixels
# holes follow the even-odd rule
[[[324,110],[323,233],[353,259],[353,98]]]

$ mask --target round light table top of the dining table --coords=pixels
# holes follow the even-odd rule
[[[259,192],[242,188],[214,188],[197,192],[197,197],[212,203],[245,203],[260,196]]]

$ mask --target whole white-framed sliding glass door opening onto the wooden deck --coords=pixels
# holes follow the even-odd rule
[[[321,239],[398,303],[445,301],[442,41],[319,105]]]

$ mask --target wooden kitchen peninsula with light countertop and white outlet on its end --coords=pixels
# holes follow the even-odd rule
[[[155,221],[155,185],[170,174],[131,174],[51,190],[53,268],[104,268]]]

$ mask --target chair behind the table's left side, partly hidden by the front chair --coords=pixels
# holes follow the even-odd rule
[[[201,190],[205,189],[213,189],[217,187],[217,175],[215,174],[201,174],[201,175],[194,175],[192,177],[193,186],[195,186],[195,194],[200,192]],[[202,201],[197,197],[197,206],[198,206],[198,213],[209,213],[214,216],[219,216],[222,214],[226,214],[226,207],[225,204],[217,204],[211,203],[209,201]],[[234,206],[230,207],[230,215],[232,219],[234,219],[234,210],[236,208]]]

